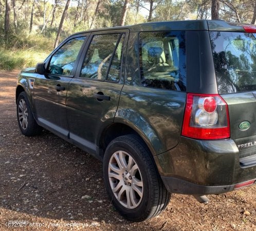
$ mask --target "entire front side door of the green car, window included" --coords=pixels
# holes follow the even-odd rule
[[[85,44],[86,35],[71,37],[46,61],[46,74],[38,74],[34,83],[34,105],[38,123],[68,137],[66,116],[67,86],[73,78],[79,52]]]

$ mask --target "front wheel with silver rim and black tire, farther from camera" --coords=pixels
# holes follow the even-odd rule
[[[19,94],[16,110],[19,127],[25,136],[32,137],[42,131],[42,127],[36,123],[33,117],[28,97],[24,91]]]

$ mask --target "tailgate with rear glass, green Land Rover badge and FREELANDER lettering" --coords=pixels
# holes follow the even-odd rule
[[[256,31],[255,31],[256,32]],[[256,164],[256,33],[210,31],[218,93],[242,167]]]

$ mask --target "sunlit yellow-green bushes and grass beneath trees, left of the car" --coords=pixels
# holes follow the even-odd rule
[[[3,18],[0,17],[0,69],[33,67],[36,63],[43,62],[53,50],[56,28],[45,28],[44,34],[40,33],[42,28],[39,28],[37,32],[29,34],[27,23],[20,21],[16,30],[10,24],[6,40],[3,25]],[[66,35],[62,33],[60,40]]]

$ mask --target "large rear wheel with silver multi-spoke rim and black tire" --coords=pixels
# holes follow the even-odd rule
[[[148,147],[135,135],[109,143],[103,159],[103,178],[109,198],[129,220],[151,219],[170,201],[171,194],[162,183]]]

